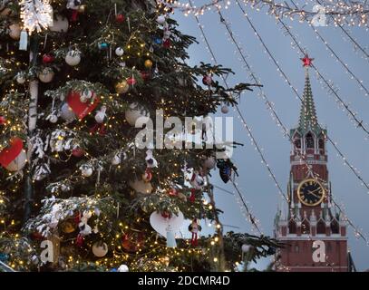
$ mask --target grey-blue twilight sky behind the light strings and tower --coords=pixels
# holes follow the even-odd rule
[[[203,3],[199,0],[194,2],[198,6]],[[288,129],[293,128],[298,121],[300,101],[296,99],[294,92],[277,72],[275,64],[264,52],[238,5],[234,1],[231,1],[231,3],[232,5],[228,10],[223,9],[222,13],[230,24],[243,52],[248,55],[247,61],[252,66],[253,72],[264,84],[264,92],[266,92],[267,98],[274,102],[281,121]],[[249,6],[246,7],[246,10],[258,33],[264,38],[268,49],[275,55],[277,62],[285,71],[287,78],[292,82],[297,92],[301,93],[305,81],[304,69],[299,60],[301,55],[297,49],[292,48],[291,39],[284,35],[273,16],[267,15],[265,11],[254,11]],[[190,48],[189,64],[197,64],[200,61],[211,63],[210,54],[202,41],[195,18],[193,16],[186,17],[178,11],[174,17],[179,21],[180,30],[183,33],[196,36],[199,41],[198,45],[194,44]],[[218,63],[231,68],[236,73],[228,76],[228,82],[232,85],[238,82],[250,82],[248,72],[240,61],[235,45],[229,40],[225,26],[220,23],[218,14],[207,12],[199,16],[199,21],[204,25],[209,44],[216,54]],[[286,20],[286,24],[292,26],[292,32],[296,34],[298,41],[306,48],[309,55],[315,58],[314,63],[319,72],[335,83],[335,87],[339,88],[339,96],[349,103],[354,111],[358,112],[358,119],[368,123],[369,97],[365,96],[364,91],[360,90],[357,82],[352,80],[348,73],[345,73],[343,66],[325,49],[325,44],[316,38],[316,34],[308,24],[299,23],[297,20]],[[339,28],[330,25],[318,27],[318,31],[352,72],[363,81],[366,87],[369,87],[367,70],[369,60],[364,58],[363,53],[354,50],[353,43],[344,38]],[[350,32],[356,41],[369,52],[368,31],[361,27],[354,27],[350,28]],[[345,111],[335,102],[335,97],[331,96],[323,84],[317,80],[316,73],[310,71],[319,123],[327,127],[330,138],[344,152],[347,160],[360,171],[365,182],[369,182],[369,153],[367,151],[369,140],[365,139],[367,136],[365,136],[364,131],[356,129]],[[286,190],[290,167],[289,151],[291,147],[289,141],[283,137],[277,123],[272,120],[267,106],[257,95],[257,91],[243,94],[239,108],[257,142],[263,148],[267,162],[274,171],[279,184]],[[219,112],[218,115],[221,115],[221,113]],[[237,114],[230,110],[227,116],[235,116],[235,140],[245,144],[244,147],[235,150],[233,155],[233,160],[237,163],[239,169],[240,177],[237,179],[239,189],[241,189],[244,198],[248,200],[248,206],[254,216],[259,219],[264,234],[272,236],[277,203],[281,202],[277,188],[274,181],[269,177],[265,165],[261,163],[257,151],[250,143],[247,131],[238,120]],[[344,161],[330,144],[328,144],[328,160],[329,177],[336,202],[345,208],[347,216],[357,227],[362,229],[364,236],[368,237],[368,190],[344,165]],[[230,191],[233,189],[231,184],[225,185],[218,178],[218,171],[214,172],[212,182],[224,189]],[[222,222],[240,227],[236,231],[252,233],[249,223],[240,211],[237,198],[219,190],[216,190],[215,194],[218,208],[225,211],[221,217]],[[226,230],[235,229],[226,228]],[[355,266],[359,270],[368,269],[369,246],[365,244],[363,239],[354,236],[352,228],[349,229],[349,248],[354,257]],[[260,261],[259,266],[263,268],[267,263],[268,260]]]

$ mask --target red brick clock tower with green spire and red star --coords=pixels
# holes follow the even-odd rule
[[[327,169],[326,131],[317,122],[308,69],[298,126],[290,131],[294,146],[287,187],[288,202],[278,208],[275,236],[286,244],[278,249],[279,272],[347,272],[346,222],[331,202]],[[304,161],[305,160],[305,161]],[[309,166],[306,166],[306,163]]]

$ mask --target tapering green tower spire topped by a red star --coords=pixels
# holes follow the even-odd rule
[[[305,133],[306,131],[319,131],[316,118],[316,105],[314,103],[313,93],[311,91],[309,67],[312,66],[314,58],[309,58],[306,53],[301,59],[305,67],[305,88],[303,93],[303,103],[301,104],[300,119],[298,121],[298,131]]]

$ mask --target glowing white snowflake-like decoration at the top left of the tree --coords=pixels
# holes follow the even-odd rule
[[[49,0],[21,0],[21,19],[24,30],[38,33],[53,25],[53,7]]]

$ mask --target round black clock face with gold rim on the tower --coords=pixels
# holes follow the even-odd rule
[[[306,179],[300,183],[297,196],[306,206],[316,206],[325,198],[325,189],[316,179]]]

